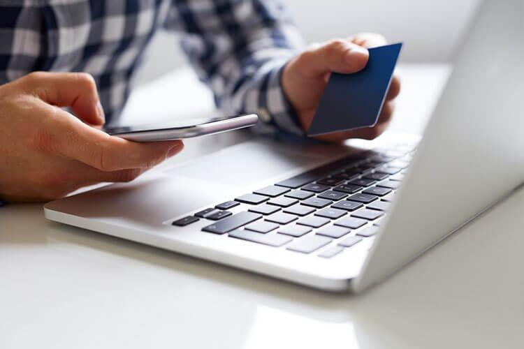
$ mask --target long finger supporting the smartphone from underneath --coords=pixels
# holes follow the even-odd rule
[[[183,149],[180,140],[138,143],[110,136],[83,124],[56,107],[53,118],[46,118],[41,138],[48,149],[105,172],[130,168],[152,168]]]

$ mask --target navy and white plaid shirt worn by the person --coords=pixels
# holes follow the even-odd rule
[[[0,84],[34,70],[87,72],[114,120],[161,29],[180,34],[226,114],[258,113],[259,133],[303,134],[280,84],[302,40],[279,0],[0,0]]]

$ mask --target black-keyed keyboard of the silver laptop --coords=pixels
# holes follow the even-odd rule
[[[332,258],[377,234],[414,151],[409,144],[396,144],[347,156],[173,225],[205,219],[210,223],[202,228],[205,233]],[[245,211],[228,211],[238,205]]]

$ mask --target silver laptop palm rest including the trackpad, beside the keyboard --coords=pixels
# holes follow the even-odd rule
[[[326,161],[340,147],[282,149],[258,142],[228,147],[136,181],[50,202],[48,209],[112,224],[151,227],[219,200],[252,191],[263,182],[305,165]]]

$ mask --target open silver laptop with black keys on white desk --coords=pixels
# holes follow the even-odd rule
[[[45,216],[361,292],[523,184],[523,9],[520,0],[479,5],[420,142],[357,149],[254,140],[50,202]]]

